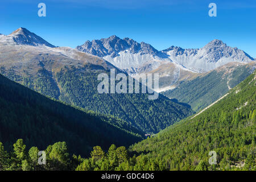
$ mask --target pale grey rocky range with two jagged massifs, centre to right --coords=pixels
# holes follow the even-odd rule
[[[249,63],[254,60],[244,51],[226,46],[217,39],[200,49],[171,46],[158,51],[150,44],[137,43],[129,38],[120,39],[113,35],[106,39],[86,41],[76,49],[102,57],[129,73],[137,73],[137,70],[143,69],[147,63],[151,64],[151,70],[157,68],[159,61],[162,61],[162,64],[179,64],[193,72],[202,73],[233,61]]]

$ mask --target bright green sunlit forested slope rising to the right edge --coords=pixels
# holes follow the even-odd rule
[[[168,169],[255,170],[256,72],[196,117],[134,144],[130,151],[159,159]],[[216,151],[217,164],[208,155]]]

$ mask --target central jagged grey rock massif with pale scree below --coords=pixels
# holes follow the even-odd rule
[[[77,50],[102,57],[121,69],[133,70],[141,67],[146,61],[160,59],[162,54],[150,44],[138,43],[130,38],[120,39],[113,35],[109,38],[86,41]]]

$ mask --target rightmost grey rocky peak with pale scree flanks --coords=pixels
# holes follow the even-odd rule
[[[175,63],[196,72],[207,72],[230,62],[249,63],[254,59],[237,47],[229,47],[222,40],[214,39],[199,49],[170,47],[163,50]]]

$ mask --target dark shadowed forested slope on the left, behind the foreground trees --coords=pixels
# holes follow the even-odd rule
[[[7,150],[24,139],[28,147],[67,142],[70,152],[88,156],[93,146],[129,146],[143,133],[111,115],[53,101],[0,75],[0,141]]]

